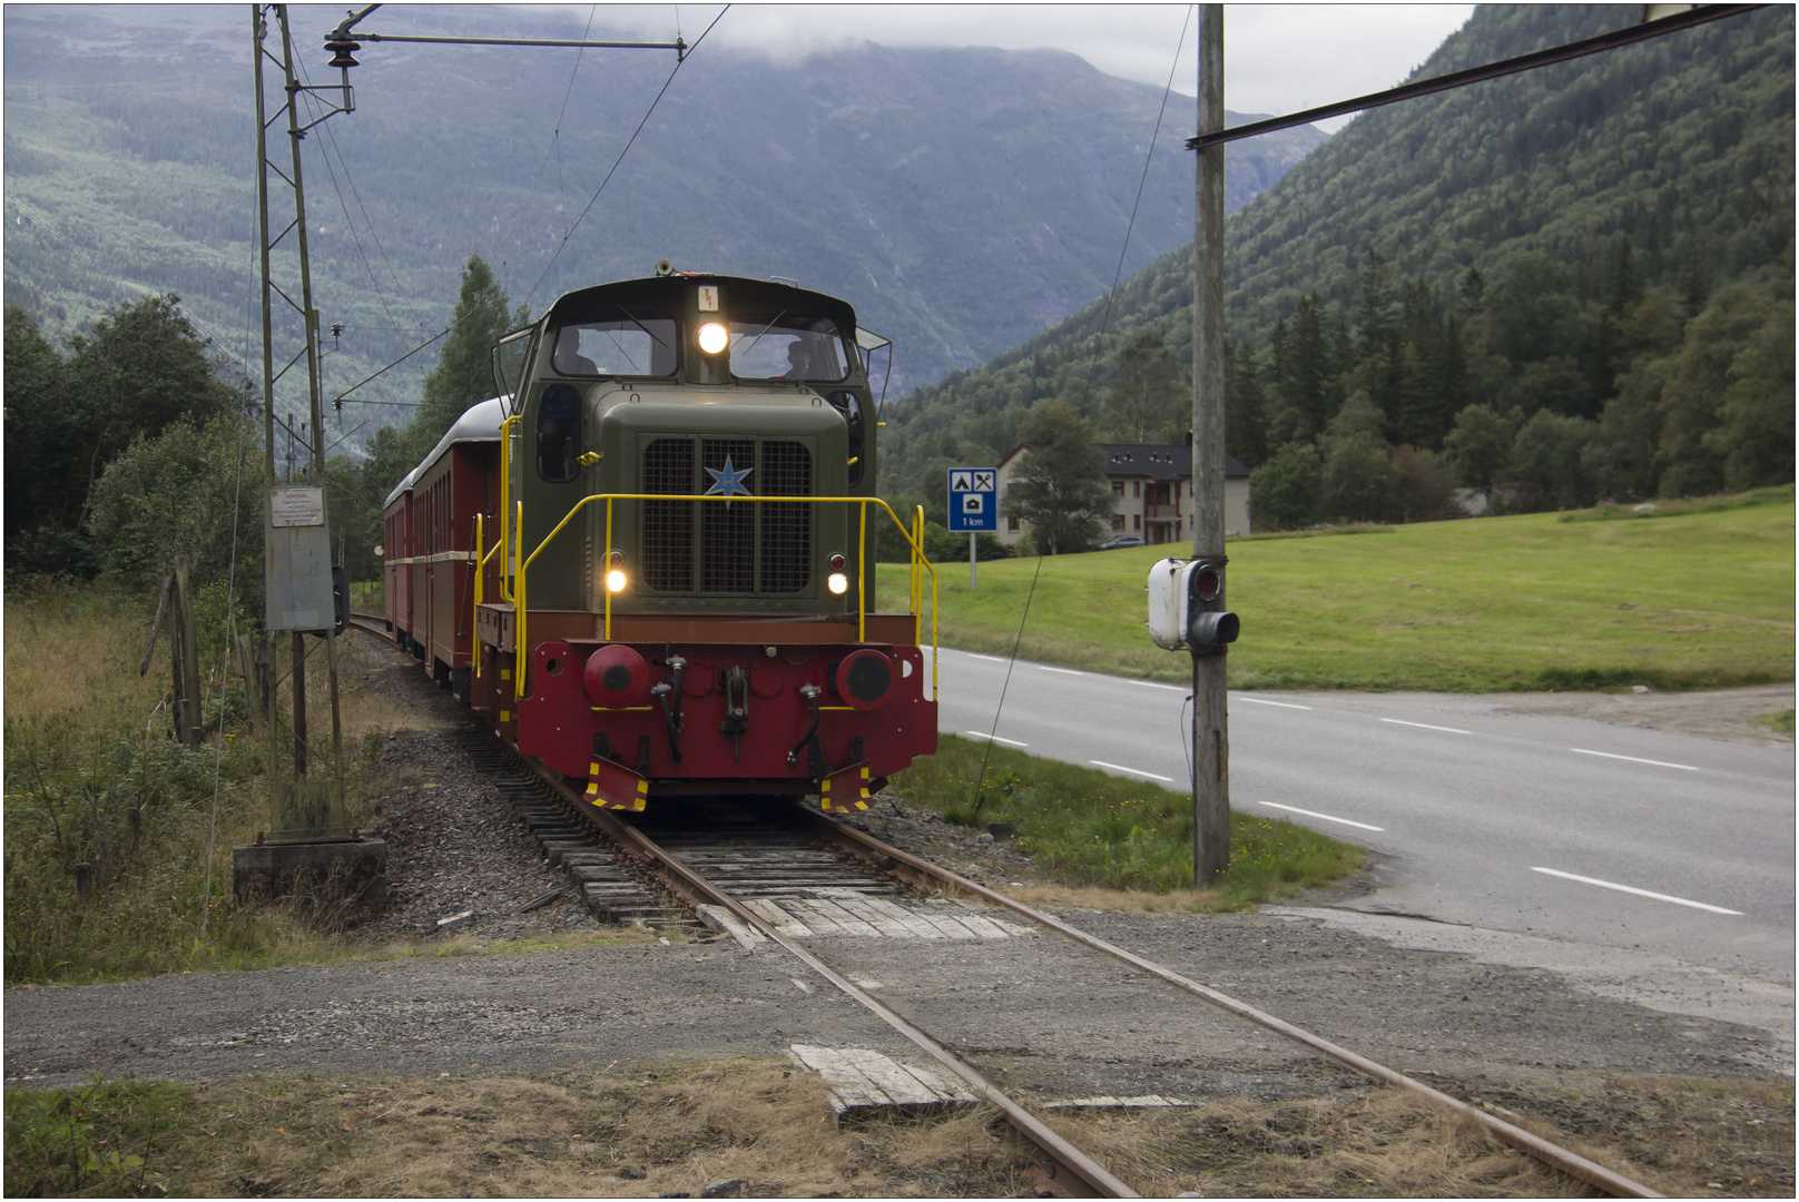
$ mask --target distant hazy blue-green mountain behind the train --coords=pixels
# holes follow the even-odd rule
[[[342,13],[293,14],[309,79],[335,81],[318,43]],[[365,27],[581,36],[568,20],[435,5]],[[604,22],[601,7],[590,36]],[[1162,104],[1060,52],[864,43],[775,65],[714,38],[576,227],[671,54],[588,50],[574,72],[574,50],[378,43],[362,63],[356,112],[306,140],[315,292],[324,322],[345,326],[331,389],[443,329],[471,254],[533,311],[664,256],[799,277],[898,342],[896,387],[935,380],[1112,283]],[[9,5],[7,302],[59,340],[110,304],[175,292],[200,329],[257,358],[252,103],[246,9]],[[1175,97],[1128,270],[1191,229],[1191,124]],[[1295,130],[1238,157],[1232,203],[1320,142]],[[434,354],[356,396],[417,399]],[[344,428],[392,414],[353,403]]]

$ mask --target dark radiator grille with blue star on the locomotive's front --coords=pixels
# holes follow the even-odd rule
[[[655,439],[644,448],[642,491],[703,495],[718,482],[712,473],[727,470],[756,497],[813,495],[811,450],[781,439]],[[797,502],[646,500],[644,585],[655,592],[804,592],[811,583],[811,509]]]

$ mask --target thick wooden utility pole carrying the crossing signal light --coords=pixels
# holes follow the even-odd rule
[[[1200,5],[1200,128],[1225,128],[1225,7]],[[1195,155],[1193,558],[1225,563],[1225,148]],[[1218,608],[1225,606],[1223,570]],[[1193,887],[1231,866],[1225,648],[1193,655]]]

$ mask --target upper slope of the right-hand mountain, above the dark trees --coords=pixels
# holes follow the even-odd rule
[[[1482,7],[1416,77],[1635,16],[1616,5]],[[1241,146],[1227,148],[1227,164]],[[1227,331],[1266,354],[1277,318],[1315,295],[1351,336],[1369,252],[1396,283],[1428,286],[1445,320],[1468,268],[1493,279],[1526,252],[1547,254],[1574,299],[1592,304],[1626,241],[1639,283],[1678,288],[1695,309],[1732,281],[1792,279],[1792,9],[1360,115],[1227,221]],[[891,486],[926,495],[944,461],[1004,453],[1038,398],[1085,399],[1097,416],[1112,351],[1133,331],[1159,333],[1191,363],[1191,302],[1189,243],[1132,277],[1110,317],[1101,297],[979,371],[903,398],[887,414]]]

